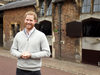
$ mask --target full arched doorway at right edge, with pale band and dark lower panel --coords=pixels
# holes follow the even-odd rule
[[[100,62],[100,20],[86,19],[82,21],[82,63],[98,65]],[[94,40],[96,39],[96,40]]]

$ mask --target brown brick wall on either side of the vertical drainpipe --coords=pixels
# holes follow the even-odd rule
[[[59,15],[58,15],[58,7],[56,6],[56,10],[54,11],[54,29],[59,28]],[[78,38],[68,37],[66,36],[66,23],[75,21],[77,15],[77,10],[73,5],[72,0],[68,0],[64,2],[62,5],[62,14],[61,14],[61,41],[64,41],[64,44],[61,44],[61,59],[62,60],[70,60],[75,61],[75,51],[76,45],[75,41]],[[59,58],[59,33],[54,32],[55,42],[55,57]]]

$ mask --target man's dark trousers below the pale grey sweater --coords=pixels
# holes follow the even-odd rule
[[[25,70],[21,70],[17,68],[16,75],[41,75],[41,72],[40,70],[39,71],[25,71]]]

